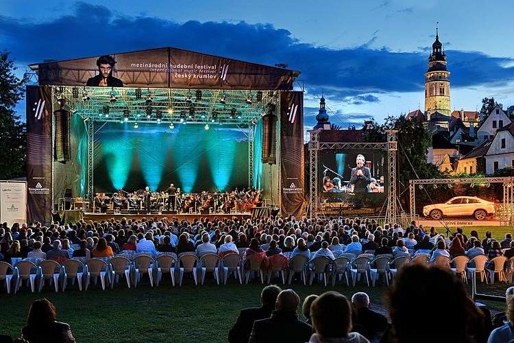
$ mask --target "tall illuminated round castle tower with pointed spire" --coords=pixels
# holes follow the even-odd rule
[[[435,112],[450,115],[450,71],[446,70],[446,55],[443,45],[439,42],[439,29],[436,28],[435,42],[432,44],[432,54],[428,57],[428,71],[425,73],[425,113],[430,121],[430,115]]]

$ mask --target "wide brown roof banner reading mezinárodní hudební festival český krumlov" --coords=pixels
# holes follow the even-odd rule
[[[31,64],[40,85],[291,90],[299,72],[164,47]]]

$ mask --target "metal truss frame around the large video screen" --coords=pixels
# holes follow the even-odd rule
[[[400,220],[396,206],[396,151],[397,151],[397,130],[387,130],[387,142],[384,143],[347,143],[347,142],[323,142],[319,140],[322,130],[310,130],[309,150],[309,193],[308,206],[310,218],[319,215],[318,196],[318,156],[322,150],[344,150],[344,149],[373,149],[387,151],[387,211],[385,221],[395,223]]]

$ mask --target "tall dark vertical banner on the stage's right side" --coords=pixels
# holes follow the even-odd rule
[[[304,93],[280,93],[282,215],[304,215]]]

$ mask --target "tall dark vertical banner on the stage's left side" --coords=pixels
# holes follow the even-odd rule
[[[51,224],[51,89],[27,86],[27,188],[29,222]]]

